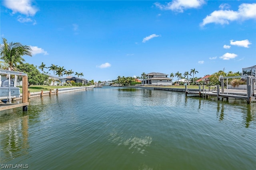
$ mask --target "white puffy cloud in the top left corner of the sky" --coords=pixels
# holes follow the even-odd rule
[[[34,16],[38,9],[32,6],[31,0],[5,0],[4,6],[12,10],[12,14],[19,12],[26,16]]]

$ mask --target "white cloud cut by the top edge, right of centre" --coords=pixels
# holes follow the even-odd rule
[[[172,10],[176,12],[183,12],[188,8],[199,8],[204,4],[204,0],[173,0],[166,5],[162,5],[158,2],[154,3],[160,10]]]

